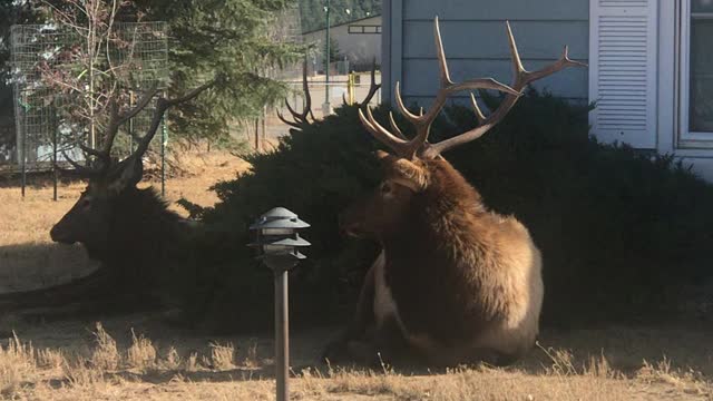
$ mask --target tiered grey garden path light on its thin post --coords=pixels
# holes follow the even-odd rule
[[[310,243],[300,237],[297,229],[310,225],[284,207],[275,207],[260,216],[250,226],[257,233],[257,238],[250,244],[258,248],[261,260],[275,277],[275,379],[276,399],[286,401],[290,398],[290,311],[287,292],[287,272],[301,260],[306,258],[300,247]]]

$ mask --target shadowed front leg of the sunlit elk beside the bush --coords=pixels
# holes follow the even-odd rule
[[[369,327],[374,324],[374,271],[372,265],[367,272],[364,283],[362,284],[359,293],[359,301],[356,302],[356,311],[351,323],[335,341],[332,341],[324,352],[322,359],[329,359],[330,361],[338,361],[344,359],[344,356],[351,354],[349,352],[349,343],[353,341],[364,340]]]

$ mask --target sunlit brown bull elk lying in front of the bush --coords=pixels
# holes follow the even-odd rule
[[[566,67],[568,58],[538,71],[522,67],[507,25],[515,79],[510,87],[494,79],[456,84],[449,77],[434,21],[440,84],[428,113],[411,114],[395,86],[395,100],[416,127],[408,139],[391,117],[391,130],[369,108],[364,127],[393,154],[379,151],[384,178],[378,189],[352,205],[341,218],[344,232],[378,241],[381,254],[360,294],[356,314],[325,358],[373,362],[417,356],[434,365],[477,361],[509,363],[526,354],[539,330],[544,286],[541,256],[528,229],[512,216],[486,208],[479,193],[440,155],[475,140],[498,124],[525,87]],[[432,121],[448,96],[495,89],[506,96],[486,117],[471,97],[479,126],[428,143]],[[368,360],[364,360],[368,358]]]

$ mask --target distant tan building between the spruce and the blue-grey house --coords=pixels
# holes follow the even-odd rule
[[[341,26],[330,28],[330,37],[339,43],[339,50],[342,56],[352,63],[369,65],[374,58],[377,63],[381,63],[381,35],[380,33],[350,33],[349,27],[354,26],[368,26],[368,27],[381,27],[381,16],[365,18],[358,21],[352,21]],[[352,29],[359,30],[359,29]],[[304,40],[307,43],[314,43],[319,49],[323,49],[324,39],[326,32],[324,29],[313,32],[304,33]],[[323,63],[323,51],[319,51],[316,55],[316,65]]]

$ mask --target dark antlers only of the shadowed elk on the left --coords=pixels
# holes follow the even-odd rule
[[[140,158],[146,150],[148,149],[148,145],[156,135],[156,130],[160,126],[160,123],[164,118],[164,114],[166,110],[175,105],[182,104],[184,101],[188,101],[194,97],[198,96],[204,90],[208,89],[215,84],[215,80],[212,80],[207,84],[204,84],[184,96],[180,96],[175,99],[166,99],[164,97],[159,97],[156,100],[156,108],[154,109],[154,116],[152,117],[152,123],[143,137],[135,136],[138,145],[136,150],[131,153],[128,158]],[[138,100],[136,106],[131,107],[129,110],[125,113],[119,113],[119,106],[117,104],[116,98],[111,98],[109,100],[109,123],[107,125],[105,136],[104,136],[104,145],[100,149],[95,149],[89,146],[85,146],[79,144],[79,147],[88,155],[91,155],[97,158],[98,164],[91,167],[82,166],[79,163],[72,160],[65,151],[62,155],[65,159],[75,168],[74,170],[62,169],[65,173],[75,174],[85,178],[96,178],[106,175],[111,167],[111,146],[114,145],[114,139],[116,138],[117,133],[119,131],[119,127],[138,115],[143,109],[145,109],[152,99],[158,94],[157,86],[153,86],[149,90],[144,92],[141,98]]]

